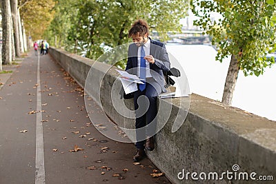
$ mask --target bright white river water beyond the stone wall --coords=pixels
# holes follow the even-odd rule
[[[166,48],[184,69],[190,92],[221,101],[230,57],[215,61],[217,51],[208,45],[167,44]],[[276,121],[276,65],[260,76],[239,71],[232,106]]]

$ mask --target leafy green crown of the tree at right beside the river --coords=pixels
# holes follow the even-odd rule
[[[217,60],[222,61],[231,54],[239,56],[240,70],[245,75],[256,76],[275,62],[273,58],[266,59],[266,54],[276,49],[274,0],[191,0],[190,5],[199,17],[195,24],[213,36],[213,44],[218,48]],[[213,21],[211,12],[223,18]]]

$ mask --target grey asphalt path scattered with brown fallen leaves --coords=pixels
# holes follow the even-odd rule
[[[148,159],[133,164],[132,143],[95,129],[83,90],[49,55],[30,52],[0,88],[0,104],[0,184],[170,183],[150,175],[160,171]],[[108,121],[91,104],[93,121]]]

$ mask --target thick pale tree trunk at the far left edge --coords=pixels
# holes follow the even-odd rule
[[[2,27],[3,27],[3,45],[2,59],[4,64],[12,64],[12,32],[11,32],[11,12],[10,0],[2,0]]]

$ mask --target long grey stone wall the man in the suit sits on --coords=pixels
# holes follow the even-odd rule
[[[118,125],[128,122],[133,127],[133,119],[125,119],[112,107],[111,86],[117,83],[118,74],[115,68],[104,63],[95,63],[90,59],[70,54],[55,48],[50,49],[51,56],[69,74],[84,87],[89,83],[88,94],[102,105],[106,114]],[[91,66],[93,65],[92,69]],[[89,70],[92,70],[89,72]],[[88,72],[90,76],[88,76]],[[86,77],[89,82],[86,83]],[[120,85],[115,85],[119,94]],[[229,183],[227,172],[233,172],[233,165],[239,170],[228,177],[242,177],[248,173],[247,183],[273,183],[273,181],[252,181],[260,175],[273,176],[276,181],[276,122],[269,121],[255,114],[250,114],[237,108],[223,105],[217,101],[199,96],[190,95],[190,109],[179,130],[172,133],[175,116],[181,112],[180,102],[183,99],[159,99],[158,120],[166,121],[168,108],[172,108],[169,119],[163,129],[156,135],[156,149],[148,152],[150,160],[166,173],[172,183]],[[132,107],[131,100],[125,100],[126,106]],[[122,125],[123,126],[123,125]],[[183,177],[183,170],[185,176]],[[234,169],[236,171],[236,168]],[[180,173],[181,172],[181,173]],[[188,180],[186,180],[186,174]],[[217,172],[224,179],[214,181],[195,181],[201,172]],[[242,173],[242,174],[241,174]],[[214,173],[213,173],[214,174]],[[211,173],[210,176],[213,176]],[[200,175],[201,178],[204,174]],[[215,175],[214,175],[215,176]],[[179,177],[179,178],[178,178]],[[232,183],[244,183],[243,180],[234,179]]]

